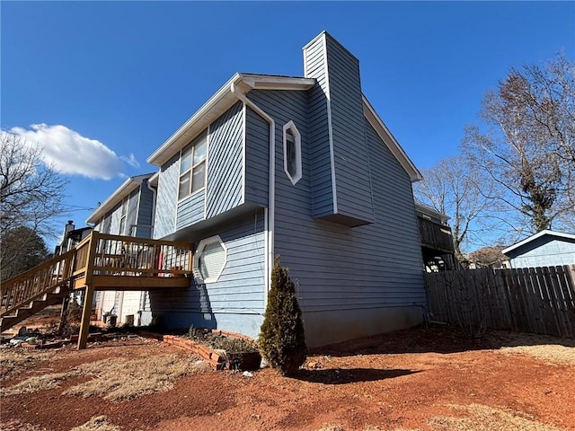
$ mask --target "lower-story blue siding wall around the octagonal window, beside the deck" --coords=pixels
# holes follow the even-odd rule
[[[226,266],[214,283],[192,283],[189,289],[151,291],[152,311],[168,328],[208,327],[241,331],[257,337],[263,321],[264,225],[256,210],[233,223],[194,233],[184,241],[219,234],[226,244]]]

